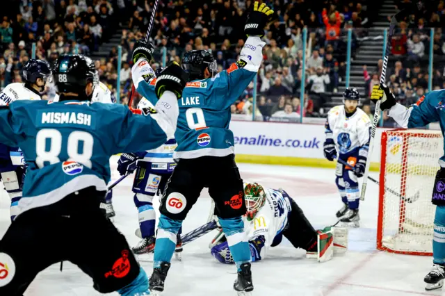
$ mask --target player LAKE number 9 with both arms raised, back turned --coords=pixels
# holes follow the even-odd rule
[[[272,13],[266,4],[260,6],[254,2],[244,27],[249,37],[238,62],[216,76],[213,76],[217,70],[216,60],[208,51],[189,51],[184,55],[182,67],[191,75],[191,81],[179,102],[175,133],[178,147],[174,154],[178,162],[161,200],[154,270],[149,281],[152,291],[163,291],[177,233],[204,187],[209,188],[216,204],[216,214],[238,269],[234,289],[238,293],[253,290],[250,249],[242,220],[245,214],[243,181],[234,161],[234,136],[228,128],[230,105],[252,81],[263,60],[265,42],[260,37]],[[145,75],[135,85],[140,94],[150,99],[155,83],[147,61],[151,54],[143,56],[138,51],[152,51],[153,47],[138,42],[134,48],[133,80],[140,73]]]

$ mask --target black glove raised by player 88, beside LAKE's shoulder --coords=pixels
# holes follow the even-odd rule
[[[155,92],[158,99],[161,98],[165,90],[174,92],[178,99],[181,99],[182,90],[186,87],[188,76],[189,74],[178,63],[169,63],[156,79]]]

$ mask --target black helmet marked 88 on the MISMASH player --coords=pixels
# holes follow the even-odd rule
[[[54,83],[58,92],[74,92],[83,97],[86,85],[93,83],[94,86],[97,81],[95,63],[86,56],[64,55],[54,64]]]

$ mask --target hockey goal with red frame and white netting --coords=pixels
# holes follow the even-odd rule
[[[418,255],[432,252],[435,206],[431,195],[443,154],[440,131],[382,133],[378,249]]]

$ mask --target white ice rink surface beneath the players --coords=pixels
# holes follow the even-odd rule
[[[119,177],[115,171],[116,162],[117,158],[112,158],[113,180]],[[334,184],[333,169],[243,163],[238,165],[243,179],[286,190],[316,229],[336,221],[334,214],[341,207],[341,199]],[[376,173],[371,175],[377,176]],[[139,240],[134,235],[138,217],[131,193],[132,178],[133,176],[129,176],[113,190],[115,225],[124,233],[131,246],[136,245]],[[388,254],[375,249],[378,186],[370,183],[368,190],[366,200],[360,204],[361,227],[350,230],[346,254],[335,256],[326,263],[317,263],[314,259],[305,258],[304,251],[294,249],[289,242],[283,241],[281,245],[269,249],[263,261],[252,263],[255,287],[253,295],[442,295],[442,290],[424,290],[423,277],[432,266],[431,257]],[[9,225],[8,201],[6,192],[2,192],[0,237]],[[210,204],[207,191],[203,191],[184,222],[184,233],[207,221]],[[223,265],[209,253],[208,245],[213,235],[214,233],[209,233],[184,247],[181,262],[172,259],[172,268],[165,281],[163,295],[236,295],[232,290],[236,277],[234,265]],[[142,262],[141,265],[147,274],[152,273],[152,263]],[[101,295],[92,288],[90,278],[75,265],[64,263],[63,266],[63,272],[59,271],[59,265],[53,265],[38,274],[25,296]]]

